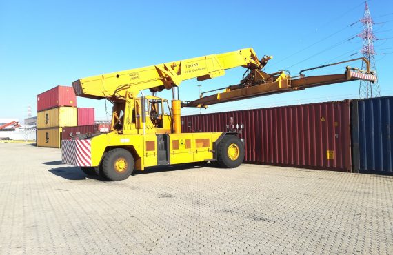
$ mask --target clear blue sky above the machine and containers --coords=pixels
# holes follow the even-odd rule
[[[369,6],[376,23],[385,21],[374,26],[376,36],[393,37],[393,1],[373,0]],[[259,58],[273,55],[265,70],[288,69],[292,75],[327,61],[361,57],[350,57],[361,48],[361,39],[348,39],[361,32],[361,23],[350,24],[363,16],[363,8],[364,1],[358,0],[1,0],[0,118],[22,121],[28,105],[35,113],[37,94],[79,78],[240,48],[254,48]],[[376,41],[375,48],[379,53],[393,52],[393,39]],[[393,94],[392,57],[376,56],[383,95]],[[310,74],[340,73],[344,68]],[[243,72],[243,68],[229,70],[225,76],[204,81],[201,88],[239,83]],[[196,80],[182,83],[180,99],[196,99],[198,84]],[[223,103],[202,112],[333,101],[356,98],[358,92],[359,81],[354,81]],[[171,93],[159,96],[170,99]],[[96,108],[97,119],[105,119],[104,101],[79,98],[78,105]],[[196,113],[199,110],[183,109],[183,114]]]

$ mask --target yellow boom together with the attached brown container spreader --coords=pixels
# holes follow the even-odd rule
[[[304,76],[302,72],[349,61],[302,70],[299,76],[291,77],[282,71],[272,74],[261,71],[270,59],[272,57],[265,56],[259,60],[252,48],[244,48],[234,52],[211,54],[181,61],[161,63],[159,65],[150,65],[145,68],[91,76],[79,79],[72,85],[77,96],[122,102],[126,99],[127,93],[128,98],[135,98],[141,90],[149,89],[151,92],[159,92],[164,89],[177,88],[182,81],[187,79],[196,78],[198,81],[203,81],[222,76],[225,74],[225,70],[230,68],[241,66],[247,69],[247,75],[243,76],[241,83],[238,85],[221,88],[220,90],[223,89],[223,92],[208,96],[201,94],[200,98],[194,101],[181,102],[181,107],[206,107],[216,103],[292,90],[303,90],[305,88],[354,81],[356,79],[376,81],[376,76],[370,70],[370,63],[365,58],[351,59],[349,61],[362,60],[366,63],[367,70],[347,67],[343,74],[308,77]],[[210,92],[214,91],[216,90]],[[177,110],[177,108],[180,108],[180,101],[177,98],[174,98],[174,101],[174,105],[172,102],[172,108]]]

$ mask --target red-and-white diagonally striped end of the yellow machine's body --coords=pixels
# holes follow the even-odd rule
[[[62,140],[61,161],[63,164],[77,165],[79,167],[92,166],[91,140]]]

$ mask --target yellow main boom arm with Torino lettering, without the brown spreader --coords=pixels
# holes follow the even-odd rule
[[[266,62],[266,61],[265,61]],[[224,54],[212,54],[181,61],[150,65],[121,72],[112,72],[79,79],[72,83],[77,96],[92,99],[125,99],[126,92],[136,96],[139,91],[150,89],[159,92],[179,86],[182,81],[196,78],[198,81],[225,74],[225,70],[243,66],[250,70],[261,69],[261,63],[252,48]]]

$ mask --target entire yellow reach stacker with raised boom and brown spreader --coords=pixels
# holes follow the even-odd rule
[[[252,48],[212,54],[83,78],[72,83],[77,96],[108,99],[113,103],[112,124],[108,134],[83,134],[62,141],[63,163],[80,166],[86,174],[100,174],[111,181],[127,179],[134,169],[217,161],[221,167],[238,167],[244,158],[243,141],[236,130],[212,133],[181,133],[182,107],[207,107],[216,103],[248,99],[332,83],[363,79],[376,81],[367,59],[367,70],[346,67],[343,74],[305,76],[302,70],[291,77],[284,71],[262,71],[272,57],[261,60]],[[237,85],[203,93],[195,101],[180,101],[181,81],[198,81],[223,76],[225,70],[243,67],[245,74]],[[143,90],[150,90],[151,96]],[[171,104],[158,92],[172,90]],[[141,96],[138,95],[141,93]],[[213,94],[215,93],[215,94]]]

